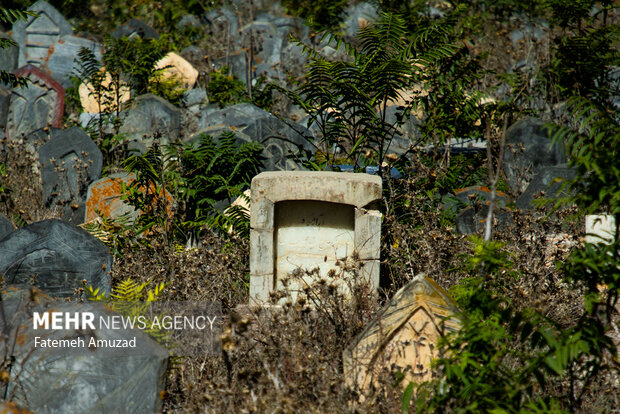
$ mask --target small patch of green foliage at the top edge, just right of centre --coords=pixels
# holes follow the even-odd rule
[[[283,0],[289,13],[306,19],[317,30],[337,29],[342,22],[346,0]]]

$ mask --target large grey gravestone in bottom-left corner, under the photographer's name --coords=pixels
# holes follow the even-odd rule
[[[29,296],[28,291],[10,292],[1,304],[8,317],[6,326],[4,321],[0,326],[9,335],[0,341],[0,350],[10,352],[13,372],[19,373],[7,384],[14,401],[50,414],[161,411],[168,365],[165,348],[140,330],[101,323],[120,317],[103,303],[51,301],[40,292],[34,301]],[[66,329],[38,325],[35,330],[34,312],[68,312],[77,318],[63,326]],[[82,325],[81,317],[88,314],[95,329]],[[54,340],[56,346],[42,345],[53,345]]]

